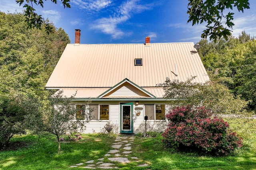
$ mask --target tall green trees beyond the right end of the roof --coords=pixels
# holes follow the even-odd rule
[[[216,45],[220,43],[219,40],[208,43],[203,39],[199,42],[202,47],[198,53],[211,80],[217,80],[227,86],[234,96],[240,95],[243,100],[251,101],[248,109],[255,111],[256,41],[249,39],[245,31],[242,36],[244,38],[229,37],[228,41],[221,45]],[[246,42],[242,43],[241,38],[243,41],[247,39]]]

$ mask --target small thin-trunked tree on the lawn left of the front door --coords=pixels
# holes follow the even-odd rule
[[[69,132],[77,132],[78,129],[83,131],[85,129],[85,123],[92,119],[91,111],[86,113],[86,119],[84,120],[74,120],[74,115],[76,113],[76,107],[72,104],[72,99],[63,96],[62,91],[57,92],[51,96],[49,100],[50,108],[43,113],[42,123],[44,131],[48,133],[49,136],[56,137],[58,143],[58,152],[60,152],[60,136]],[[88,107],[86,107],[88,108]]]

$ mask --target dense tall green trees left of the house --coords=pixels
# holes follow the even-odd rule
[[[44,86],[66,44],[70,43],[63,29],[54,27],[50,35],[44,30],[28,30],[24,18],[23,14],[0,12],[0,145],[2,147],[8,145],[14,134],[26,133],[24,126],[24,122],[28,120],[25,119],[26,115],[32,111],[40,113],[36,105],[47,103],[49,91],[44,90]]]

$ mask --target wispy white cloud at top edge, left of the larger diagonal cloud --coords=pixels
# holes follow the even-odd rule
[[[110,6],[112,0],[72,0],[71,2],[82,9],[99,11]]]

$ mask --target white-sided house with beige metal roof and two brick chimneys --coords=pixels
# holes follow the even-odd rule
[[[107,121],[119,126],[120,133],[162,131],[166,125],[168,101],[156,84],[170,80],[195,82],[209,80],[193,43],[80,44],[80,29],[75,44],[68,44],[50,76],[46,89],[63,90],[65,96],[77,94],[74,105],[84,119],[84,102],[90,100],[94,120],[85,133],[100,132]]]

